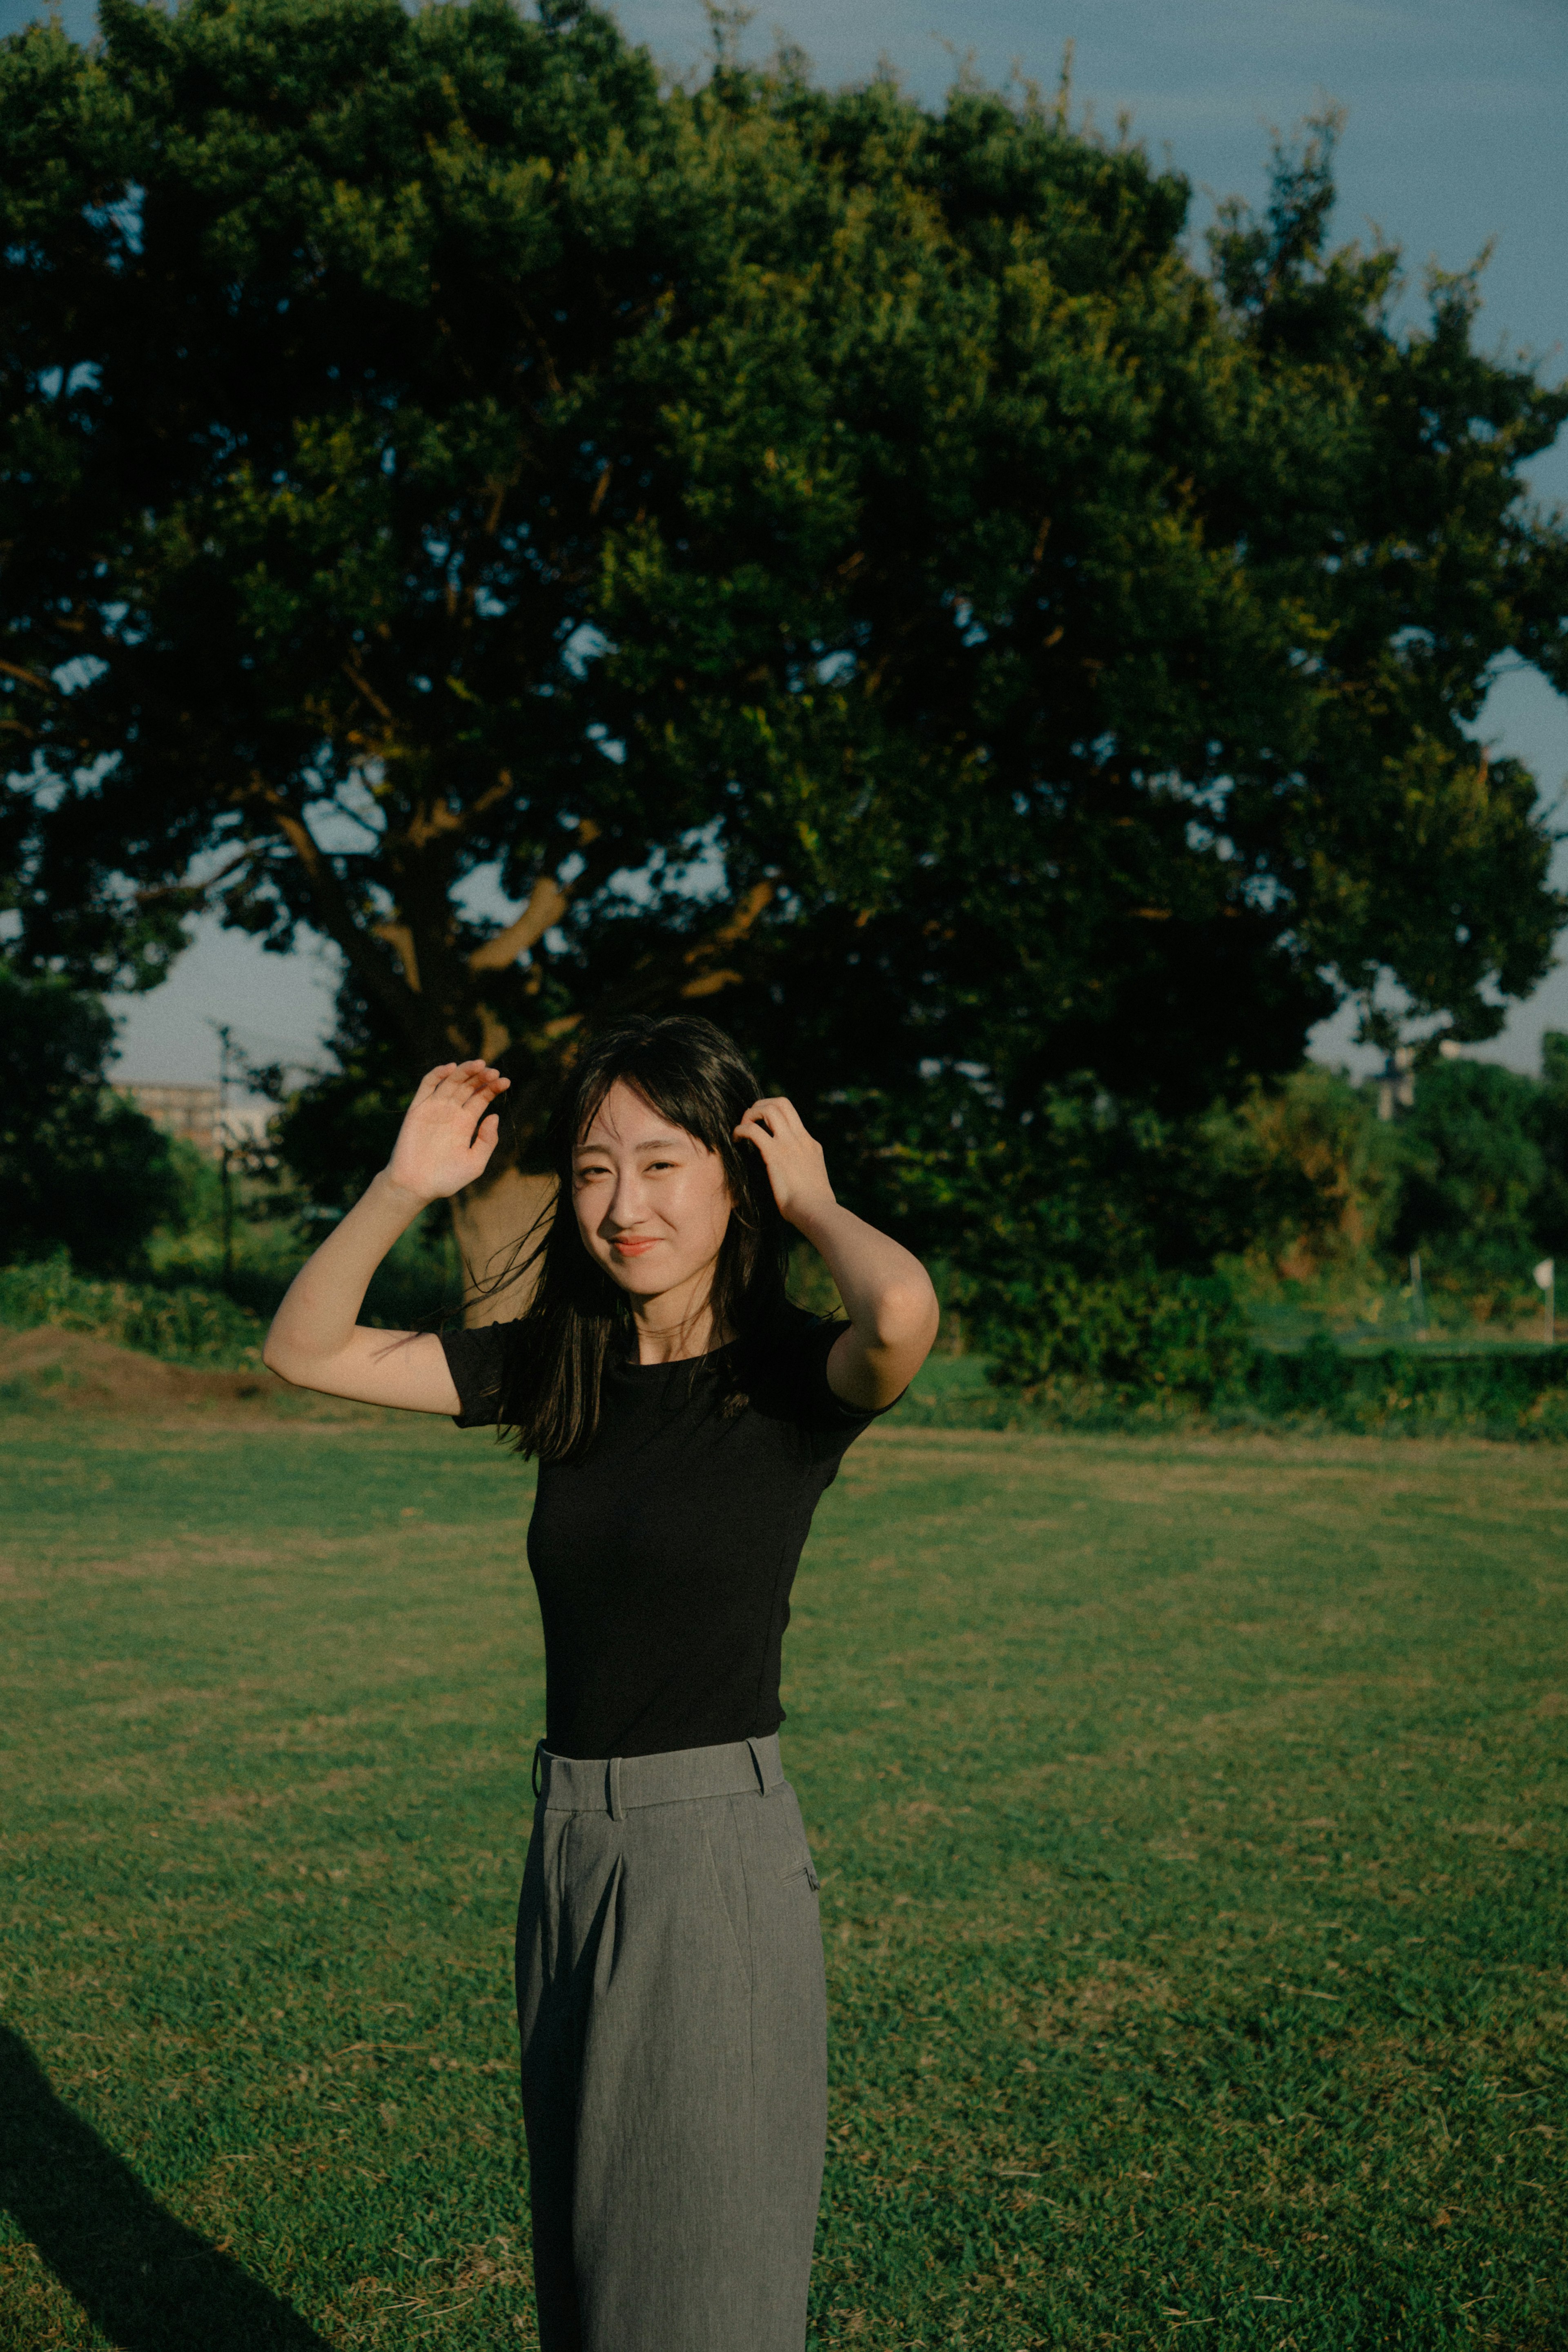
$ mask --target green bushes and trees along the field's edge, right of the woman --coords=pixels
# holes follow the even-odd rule
[[[1450,1301],[1481,1312],[1533,1301],[1528,1268],[1563,1247],[1566,1068],[1554,1035],[1542,1080],[1434,1061],[1392,1122],[1375,1087],[1319,1068],[1135,1136],[1060,1101],[1006,1136],[994,1117],[983,1124],[980,1103],[954,1112],[947,1136],[936,1122],[924,1150],[910,1129],[903,1152],[884,1141],[884,1188],[922,1240],[943,1214],[961,1221],[959,1296],[990,1378],[1058,1418],[1114,1425],[1128,1409],[1182,1404],[1316,1414],[1335,1428],[1563,1435],[1563,1367],[1537,1348],[1368,1355],[1319,1331],[1305,1352],[1279,1352],[1258,1345],[1253,1317],[1279,1291],[1302,1291],[1302,1277],[1316,1294],[1352,1284],[1385,1298],[1413,1249]],[[1222,1275],[1182,1270],[1182,1256],[1187,1268],[1213,1258],[1222,1235],[1232,1251],[1244,1237],[1246,1254]],[[959,1421],[976,1414],[980,1399],[966,1397]]]

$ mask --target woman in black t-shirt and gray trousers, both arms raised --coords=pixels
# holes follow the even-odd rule
[[[430,1070],[266,1362],[538,1456],[517,2016],[543,2352],[799,2352],[827,2051],[780,1639],[816,1501],[919,1371],[938,1305],[712,1023],[639,1018],[574,1065],[524,1315],[357,1327],[397,1235],[482,1174],[505,1087],[480,1061]],[[785,1221],[846,1322],[788,1303]]]

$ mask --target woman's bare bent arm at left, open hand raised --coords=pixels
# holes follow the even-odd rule
[[[456,1414],[458,1392],[433,1331],[369,1331],[360,1308],[400,1232],[433,1200],[484,1174],[496,1148],[491,1103],[510,1080],[482,1061],[442,1063],[418,1082],[390,1162],[294,1275],[261,1359],[292,1388],[411,1414]]]

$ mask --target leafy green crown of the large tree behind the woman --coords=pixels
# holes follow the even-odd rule
[[[1540,978],[1467,727],[1566,677],[1568,397],[1467,278],[1396,329],[1326,129],[1201,270],[1185,181],[1027,94],[668,89],[574,0],[101,28],[0,45],[38,962],[310,924],[348,1091],[505,1054],[524,1155],[611,1007],[1168,1120],[1380,974],[1460,1037]]]

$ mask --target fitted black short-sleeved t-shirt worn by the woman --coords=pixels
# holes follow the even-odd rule
[[[458,1428],[498,1418],[520,1329],[442,1336]],[[875,1418],[827,1385],[827,1350],[846,1329],[790,1308],[748,1350],[738,1411],[717,1355],[609,1364],[590,1449],[538,1465],[529,1566],[555,1755],[663,1755],[778,1729],[811,1512]]]

